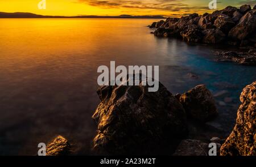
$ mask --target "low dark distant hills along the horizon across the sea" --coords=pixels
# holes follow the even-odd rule
[[[96,15],[79,15],[79,16],[44,16],[28,12],[0,12],[0,18],[122,18],[122,19],[164,19],[161,15],[119,15],[119,16],[96,16]]]

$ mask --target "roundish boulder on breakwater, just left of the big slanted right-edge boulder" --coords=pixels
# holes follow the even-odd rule
[[[215,20],[214,25],[219,28],[222,32],[228,34],[231,28],[234,27],[235,23],[229,16],[221,14]]]

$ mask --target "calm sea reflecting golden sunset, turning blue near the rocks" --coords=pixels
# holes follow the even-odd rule
[[[67,137],[79,155],[90,154],[91,116],[100,102],[97,68],[110,61],[158,65],[160,82],[174,94],[207,85],[219,94],[213,125],[230,131],[256,67],[215,62],[216,46],[155,37],[146,27],[154,21],[0,19],[0,155],[36,155],[38,143],[56,135]]]

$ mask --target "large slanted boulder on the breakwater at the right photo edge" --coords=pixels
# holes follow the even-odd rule
[[[229,37],[243,40],[256,29],[256,10],[251,10],[242,16],[239,23],[229,32]]]

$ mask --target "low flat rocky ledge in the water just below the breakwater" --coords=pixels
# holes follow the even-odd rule
[[[217,52],[217,61],[228,61],[234,62],[241,65],[256,65],[256,53],[254,50],[249,50],[249,52]]]

